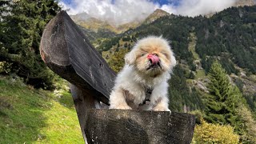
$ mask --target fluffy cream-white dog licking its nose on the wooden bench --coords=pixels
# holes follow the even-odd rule
[[[168,42],[162,37],[142,38],[125,61],[110,94],[110,109],[170,111],[167,81],[176,60]],[[149,90],[150,104],[140,108]]]

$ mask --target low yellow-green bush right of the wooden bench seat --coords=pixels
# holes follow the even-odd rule
[[[230,125],[211,124],[202,120],[201,125],[196,125],[192,143],[238,143],[239,136],[234,134]]]

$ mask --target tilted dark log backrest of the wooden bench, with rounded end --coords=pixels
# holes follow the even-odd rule
[[[115,73],[65,11],[47,24],[40,52],[56,74],[108,103]]]

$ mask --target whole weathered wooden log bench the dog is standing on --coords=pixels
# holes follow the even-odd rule
[[[191,142],[195,124],[191,114],[107,109],[116,74],[66,11],[60,12],[47,24],[40,52],[46,65],[70,82],[85,142]]]

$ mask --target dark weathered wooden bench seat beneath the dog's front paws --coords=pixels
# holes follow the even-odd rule
[[[87,110],[86,138],[90,143],[190,143],[194,116],[140,110]]]

